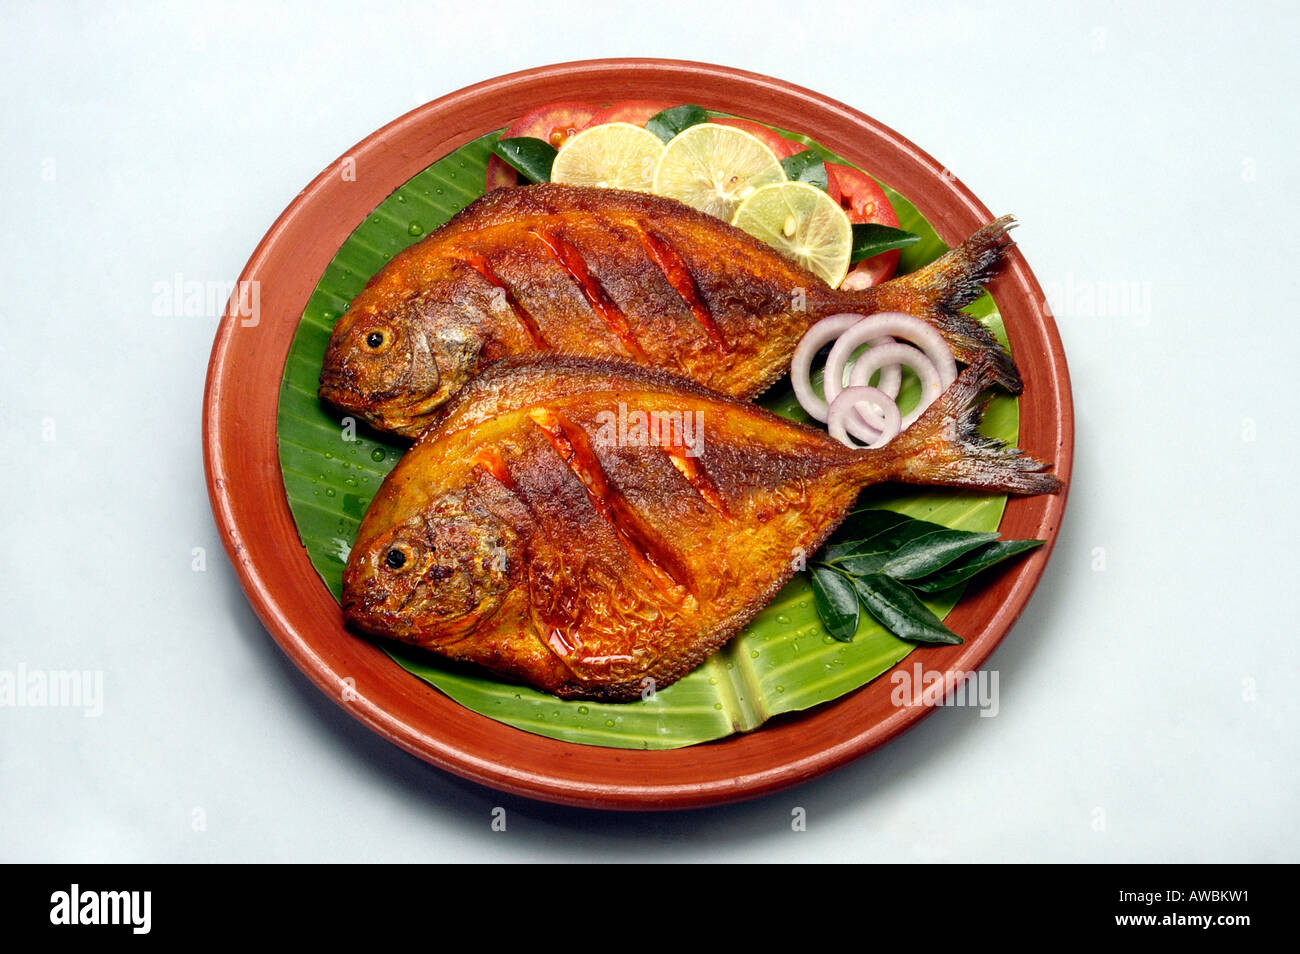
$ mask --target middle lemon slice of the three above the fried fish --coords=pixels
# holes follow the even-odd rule
[[[734,126],[701,122],[668,140],[654,192],[729,222],[755,188],[772,182],[785,182],[785,170],[762,139]]]

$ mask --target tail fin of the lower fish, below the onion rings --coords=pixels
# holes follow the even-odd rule
[[[1061,478],[1044,473],[1049,464],[976,433],[998,380],[998,365],[984,354],[905,432],[878,451],[864,467],[880,480],[902,483],[939,483],[1002,494],[1056,494]],[[864,465],[868,461],[863,461]],[[874,468],[874,469],[872,469]]]

